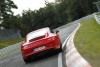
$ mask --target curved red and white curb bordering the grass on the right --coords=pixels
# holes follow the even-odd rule
[[[81,25],[73,31],[66,42],[65,58],[67,67],[92,67],[76,50],[74,46],[74,35]]]

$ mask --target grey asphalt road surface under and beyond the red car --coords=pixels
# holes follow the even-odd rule
[[[61,39],[61,43],[65,41],[65,39],[68,37],[69,34],[72,33],[72,31],[77,27],[78,24],[73,24],[67,27],[64,27],[62,29],[59,29],[59,36]],[[64,53],[61,52],[62,57],[62,64],[61,61],[58,63],[59,53],[58,54],[50,54],[48,56],[40,57],[37,60],[32,60],[30,63],[25,64],[20,50],[14,52],[13,54],[8,55],[7,57],[0,58],[0,67],[59,67],[59,65],[62,65],[62,67],[65,67],[64,64]],[[61,67],[61,66],[60,66]]]

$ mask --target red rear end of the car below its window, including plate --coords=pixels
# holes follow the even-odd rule
[[[58,37],[58,34],[56,34],[46,38],[39,38],[35,41],[28,43],[27,45],[22,45],[21,51],[23,58],[27,59],[28,57],[41,56],[45,53],[48,53],[49,51],[57,50],[60,48],[60,39]]]

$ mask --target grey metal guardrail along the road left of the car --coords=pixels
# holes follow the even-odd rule
[[[9,54],[15,50],[18,50],[20,48],[21,43],[22,42],[19,42],[19,43],[13,44],[11,46],[5,47],[3,49],[0,49],[0,57],[4,57],[6,54]]]

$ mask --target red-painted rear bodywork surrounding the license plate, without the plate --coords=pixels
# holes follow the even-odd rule
[[[21,51],[22,51],[22,56],[23,56],[23,59],[27,59],[28,57],[30,57],[31,55],[33,57],[36,57],[36,56],[41,56],[41,55],[44,55],[44,54],[47,54],[49,52],[53,52],[55,50],[58,50],[60,49],[61,45],[60,45],[60,39],[58,36],[55,36],[54,37],[55,39],[52,40],[52,37],[51,38],[48,38],[48,39],[44,39],[44,40],[40,40],[38,42],[41,42],[41,44],[30,44],[28,47],[29,48],[21,48]],[[40,50],[40,51],[36,51],[34,52],[33,50],[38,48],[38,47],[41,47],[41,46],[45,46],[46,48],[43,49],[43,50]]]

